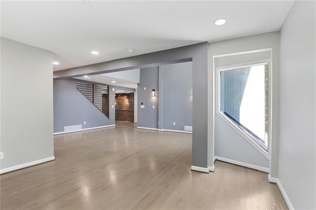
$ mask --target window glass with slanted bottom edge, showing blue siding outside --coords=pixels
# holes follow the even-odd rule
[[[220,112],[268,151],[268,64],[220,70]]]

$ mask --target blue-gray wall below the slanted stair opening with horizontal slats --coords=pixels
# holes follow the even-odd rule
[[[54,133],[64,126],[82,125],[82,129],[115,124],[115,93],[109,86],[110,117],[107,118],[79,90],[76,79],[54,79]],[[83,122],[86,121],[86,125]]]

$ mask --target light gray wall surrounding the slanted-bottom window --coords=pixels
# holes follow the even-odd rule
[[[209,44],[209,56],[221,55],[227,53],[235,53],[241,51],[249,51],[256,49],[273,48],[273,142],[272,142],[272,162],[271,175],[277,175],[278,165],[278,97],[279,97],[279,32],[266,33],[261,35],[252,35],[241,38],[229,39],[224,41],[213,42]],[[257,55],[247,55],[231,57],[230,59],[218,60],[215,62],[217,66],[228,66],[236,61],[243,63],[255,61],[258,59],[266,59],[270,54],[260,53]],[[213,62],[209,62],[209,70],[213,70]],[[209,73],[209,81],[213,81],[213,74]],[[209,86],[209,93],[213,93],[213,87]],[[216,91],[217,93],[217,91]],[[212,94],[210,94],[212,96]],[[209,97],[209,104],[213,105],[213,98]],[[261,167],[269,168],[269,160],[264,157],[256,148],[250,145],[246,140],[223,121],[217,114],[213,116],[209,112],[210,128],[213,126],[213,117],[215,119],[215,148],[213,144],[209,144],[209,154],[214,150],[214,154],[220,157],[229,158]],[[213,131],[209,129],[209,137],[211,138]],[[213,157],[209,156],[209,164],[212,166]]]

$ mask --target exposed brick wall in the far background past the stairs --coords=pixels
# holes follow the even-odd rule
[[[134,122],[134,93],[115,94],[115,120]]]

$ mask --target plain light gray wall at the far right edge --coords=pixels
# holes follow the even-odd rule
[[[316,209],[315,8],[295,1],[281,28],[278,178],[294,209]]]

